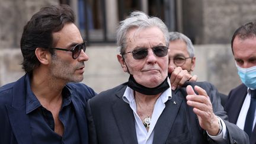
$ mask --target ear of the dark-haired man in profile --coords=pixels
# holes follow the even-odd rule
[[[49,58],[50,58],[50,52],[47,50],[37,47],[35,50],[35,54],[39,62],[43,65],[48,65],[49,63]]]

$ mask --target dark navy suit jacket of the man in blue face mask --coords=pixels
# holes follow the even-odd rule
[[[225,111],[229,117],[231,123],[236,124],[242,104],[244,103],[245,97],[247,95],[247,87],[244,84],[239,85],[229,92],[228,101],[225,104]],[[250,143],[256,143],[256,128],[252,131],[252,136],[250,138]]]

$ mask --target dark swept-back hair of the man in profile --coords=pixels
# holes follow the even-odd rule
[[[33,69],[40,66],[35,55],[37,47],[54,54],[53,50],[49,49],[54,43],[52,33],[62,30],[66,23],[75,23],[75,15],[68,5],[44,7],[31,17],[24,26],[20,43],[25,72],[32,73]]]

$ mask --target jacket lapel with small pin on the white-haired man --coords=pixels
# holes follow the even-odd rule
[[[172,98],[165,103],[164,111],[156,122],[153,143],[165,143],[172,129],[183,100],[179,98],[180,92],[172,91]],[[167,122],[168,121],[168,122]]]

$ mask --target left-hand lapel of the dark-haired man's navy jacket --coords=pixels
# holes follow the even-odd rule
[[[5,105],[12,127],[12,132],[18,143],[32,143],[30,122],[25,112],[25,78],[20,78],[13,88],[12,105]]]

